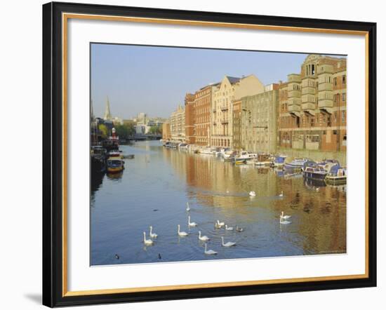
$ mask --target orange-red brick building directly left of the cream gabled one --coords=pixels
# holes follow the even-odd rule
[[[211,143],[211,105],[213,90],[218,84],[204,86],[194,93],[195,143],[207,146]]]

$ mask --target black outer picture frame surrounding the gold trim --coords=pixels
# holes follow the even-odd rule
[[[63,295],[62,262],[62,13],[198,20],[205,22],[274,25],[352,30],[368,35],[368,277],[222,288],[194,288],[156,292],[121,292],[99,295]],[[252,295],[376,286],[376,24],[343,20],[315,20],[265,15],[177,11],[158,8],[67,4],[43,6],[43,304],[74,306],[117,302]]]

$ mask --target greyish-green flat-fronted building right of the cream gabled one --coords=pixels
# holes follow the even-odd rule
[[[253,152],[276,152],[279,84],[258,95],[241,98],[239,147]]]

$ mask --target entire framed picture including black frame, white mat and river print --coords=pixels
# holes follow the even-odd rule
[[[43,6],[43,303],[376,285],[376,25]]]

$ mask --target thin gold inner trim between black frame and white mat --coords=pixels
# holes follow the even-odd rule
[[[319,276],[308,278],[282,278],[272,280],[258,281],[237,281],[237,282],[222,282],[222,283],[200,283],[186,285],[166,285],[152,286],[142,288],[112,288],[104,290],[67,290],[67,22],[72,19],[81,20],[102,20],[115,22],[145,22],[152,24],[164,25],[187,25],[187,26],[205,26],[205,27],[226,27],[238,29],[259,29],[272,31],[288,31],[288,32],[312,32],[325,34],[350,34],[365,37],[365,273],[343,276]],[[62,297],[83,296],[83,295],[102,295],[102,294],[119,294],[126,292],[154,292],[166,290],[194,289],[194,288],[226,288],[229,286],[241,285],[263,285],[263,284],[278,284],[278,283],[300,283],[310,281],[331,281],[331,280],[349,280],[368,278],[368,32],[354,31],[344,29],[321,29],[307,27],[284,27],[273,25],[251,25],[237,24],[226,22],[205,22],[197,20],[171,20],[164,18],[134,18],[126,16],[110,16],[110,15],[91,15],[78,13],[62,13]]]

